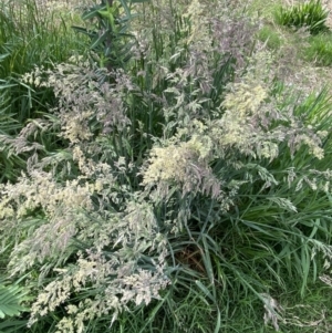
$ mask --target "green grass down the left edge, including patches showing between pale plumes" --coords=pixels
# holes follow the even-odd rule
[[[29,118],[39,117],[54,105],[51,90],[35,89],[20,76],[35,66],[50,69],[73,54],[83,54],[86,39],[70,28],[75,22],[81,22],[80,14],[62,9],[59,2],[1,1],[0,134],[14,137]],[[44,138],[46,149],[54,147],[55,139],[50,137],[46,143]],[[0,146],[0,179],[14,179],[24,168],[24,159],[27,156],[19,157]]]

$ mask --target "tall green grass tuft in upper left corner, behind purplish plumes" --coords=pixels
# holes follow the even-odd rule
[[[21,124],[45,110],[50,95],[29,90],[19,76],[35,65],[51,67],[66,61],[85,48],[84,39],[71,30],[71,21],[77,21],[77,14],[50,10],[34,0],[4,0],[0,4],[1,92],[8,91],[9,113],[15,113]]]

